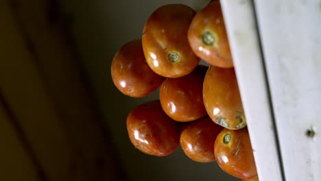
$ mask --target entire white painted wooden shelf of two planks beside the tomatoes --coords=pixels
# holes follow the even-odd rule
[[[321,1],[221,3],[259,179],[321,180]]]

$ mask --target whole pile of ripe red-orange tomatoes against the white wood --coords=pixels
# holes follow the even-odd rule
[[[155,10],[142,38],[116,53],[111,74],[130,97],[160,88],[159,99],[128,114],[141,152],[167,156],[180,145],[196,162],[216,160],[232,176],[258,180],[219,1],[199,12],[183,4]]]

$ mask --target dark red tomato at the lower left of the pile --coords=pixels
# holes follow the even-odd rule
[[[165,114],[159,100],[134,108],[127,117],[127,130],[137,149],[154,156],[171,154],[180,141],[177,122]]]

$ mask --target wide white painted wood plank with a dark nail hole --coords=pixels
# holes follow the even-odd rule
[[[255,7],[285,179],[321,180],[321,1],[255,1]]]

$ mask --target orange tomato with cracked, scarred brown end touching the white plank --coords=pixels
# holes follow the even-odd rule
[[[246,126],[233,68],[209,67],[204,78],[203,99],[206,111],[215,123],[230,130]]]

